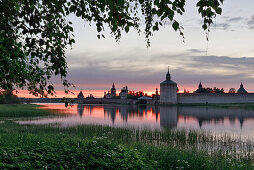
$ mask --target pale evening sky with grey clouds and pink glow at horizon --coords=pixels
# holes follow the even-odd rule
[[[106,38],[98,39],[93,24],[70,16],[76,43],[66,51],[68,80],[85,96],[91,90],[102,96],[113,82],[117,90],[128,85],[129,90],[151,93],[165,80],[169,67],[180,91],[196,90],[200,81],[205,87],[228,91],[238,89],[242,81],[247,91],[254,92],[254,1],[225,0],[208,42],[196,2],[187,0],[186,13],[177,17],[185,42],[166,25],[153,34],[149,48],[144,35],[134,30],[123,34],[119,43],[107,28]],[[57,78],[53,82],[57,90],[63,89]]]

